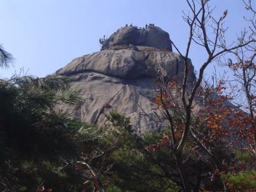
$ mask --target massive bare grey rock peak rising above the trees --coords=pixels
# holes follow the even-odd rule
[[[189,81],[194,81],[190,65]],[[164,78],[182,76],[184,60],[172,52],[168,33],[153,25],[125,26],[102,42],[102,51],[74,59],[56,76],[70,77],[71,86],[80,90],[85,101],[76,114],[83,122],[104,124],[105,115],[114,110],[129,116],[136,132],[143,134],[164,126],[154,120],[150,102],[156,97],[156,69]]]

